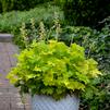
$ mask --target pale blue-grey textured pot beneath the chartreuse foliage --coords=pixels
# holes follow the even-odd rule
[[[56,101],[52,97],[35,95],[32,98],[33,110],[78,110],[80,99],[76,96],[68,95],[65,98]]]

